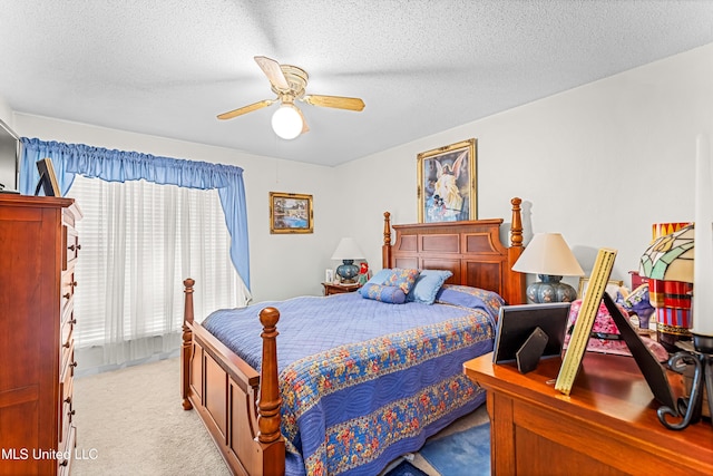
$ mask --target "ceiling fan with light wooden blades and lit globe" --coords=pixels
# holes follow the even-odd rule
[[[302,111],[294,104],[295,100],[311,104],[312,106],[333,107],[336,109],[359,111],[364,108],[364,101],[355,97],[305,95],[304,89],[310,77],[302,68],[292,65],[280,65],[274,59],[264,56],[256,56],[255,62],[267,76],[272,90],[277,97],[223,113],[218,115],[218,119],[232,119],[280,101],[280,108],[275,110],[272,117],[272,127],[280,137],[293,139],[300,134],[310,130]]]

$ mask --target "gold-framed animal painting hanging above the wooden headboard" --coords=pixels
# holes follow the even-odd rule
[[[478,218],[477,140],[418,154],[419,223]]]

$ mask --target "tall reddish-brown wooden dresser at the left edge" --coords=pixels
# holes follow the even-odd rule
[[[67,475],[75,451],[74,200],[0,194],[0,475]]]

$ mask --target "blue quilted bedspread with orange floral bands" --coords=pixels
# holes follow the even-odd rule
[[[260,369],[268,305],[280,311],[287,474],[378,474],[485,399],[462,363],[492,350],[492,310],[349,293],[221,310],[203,326]]]

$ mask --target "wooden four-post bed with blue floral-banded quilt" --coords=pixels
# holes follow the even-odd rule
[[[450,274],[433,304],[354,292],[218,310],[198,323],[186,279],[184,409],[197,411],[237,475],[379,474],[418,450],[485,401],[462,362],[492,349],[494,294],[525,302],[525,276],[511,271],[522,252],[520,203],[511,200],[508,246],[501,218],[391,225],[384,213],[384,270]],[[476,304],[447,299],[472,289]]]

